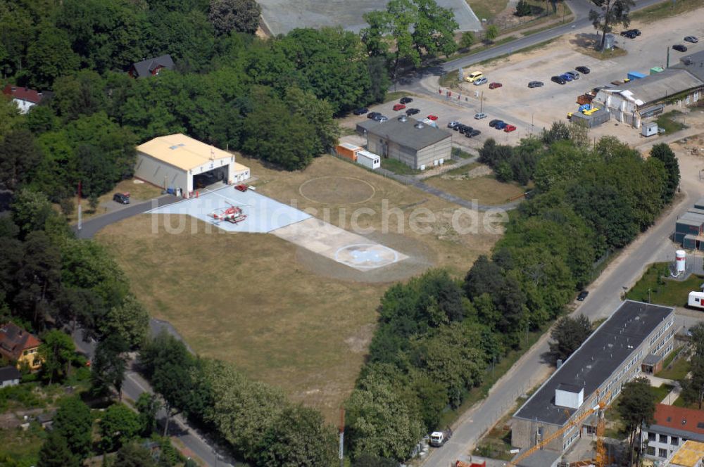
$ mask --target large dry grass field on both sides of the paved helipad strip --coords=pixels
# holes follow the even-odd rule
[[[240,161],[258,177],[253,184],[259,193],[303,210],[329,208],[332,214],[326,220],[332,224],[348,226],[356,207],[374,210],[360,224],[375,229],[375,240],[402,252],[423,252],[430,264],[447,267],[456,276],[463,276],[498,239],[489,233],[461,236],[448,229],[454,205],[332,156],[318,158],[300,172]],[[336,193],[338,204],[326,205],[301,196],[304,181],[330,175],[367,181],[374,188],[372,198],[351,205],[340,203],[344,193]],[[439,219],[432,233],[410,231],[406,222],[403,234],[377,234],[384,203],[406,214],[426,207]],[[394,219],[389,218],[391,226]],[[217,229],[208,234],[206,224],[196,224],[197,233],[187,229],[175,235],[167,234],[161,222],[152,233],[152,220],[132,217],[98,236],[114,252],[152,316],[170,321],[199,354],[234,362],[252,378],[282,387],[292,399],[334,421],[363,364],[379,298],[389,283],[316,272],[309,262],[317,255],[272,235]]]

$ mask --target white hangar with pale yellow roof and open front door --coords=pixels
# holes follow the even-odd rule
[[[137,146],[134,177],[188,197],[199,180],[232,184],[250,174],[249,167],[235,162],[234,154],[184,134],[170,134]]]

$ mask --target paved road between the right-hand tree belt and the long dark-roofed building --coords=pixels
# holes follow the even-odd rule
[[[682,198],[677,205],[662,215],[658,223],[631,243],[591,285],[589,297],[575,310],[595,320],[608,316],[621,301],[625,288],[630,288],[650,262],[674,257],[669,241],[674,221],[686,207],[704,193],[704,184],[682,181]],[[491,388],[489,396],[460,418],[452,439],[428,456],[427,466],[447,467],[451,461],[462,459],[486,430],[504,414],[513,409],[515,399],[545,380],[552,371],[543,361],[548,352],[546,333],[523,357]]]

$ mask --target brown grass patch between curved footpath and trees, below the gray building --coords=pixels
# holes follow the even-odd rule
[[[458,169],[449,171],[447,174],[455,175],[458,174],[457,172],[467,172],[467,168],[459,167]],[[426,179],[425,183],[447,191],[455,196],[459,196],[460,198],[477,200],[477,203],[485,205],[508,203],[512,198],[521,196],[526,191],[525,187],[517,184],[502,183],[491,175],[469,180],[448,179],[444,178],[442,175],[438,175]]]

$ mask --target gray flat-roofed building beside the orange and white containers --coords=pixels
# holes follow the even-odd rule
[[[363,130],[367,134],[367,151],[400,160],[414,169],[432,169],[449,160],[452,153],[452,134],[406,115],[366,124]]]

